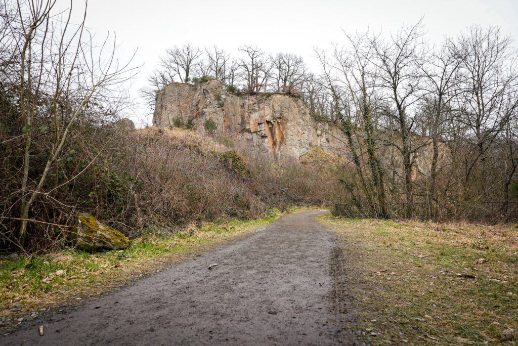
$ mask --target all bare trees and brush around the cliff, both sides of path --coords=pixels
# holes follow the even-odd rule
[[[132,69],[54,2],[0,3],[0,247],[66,245],[79,211],[127,235],[297,203],[380,218],[516,217],[516,50],[472,26],[429,47],[421,24],[344,37],[300,56],[243,46],[167,50],[143,92],[207,76],[231,92],[282,91],[337,126],[339,156],[272,162],[239,143],[118,121]],[[223,141],[222,141],[223,142]],[[229,152],[235,149],[237,152]],[[243,154],[246,152],[246,155]],[[236,169],[233,160],[242,160]]]

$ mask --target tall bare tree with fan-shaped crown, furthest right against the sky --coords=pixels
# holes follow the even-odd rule
[[[451,39],[452,50],[461,62],[465,80],[458,99],[461,120],[469,126],[473,141],[471,162],[466,165],[466,182],[481,162],[484,170],[485,152],[506,126],[502,102],[516,82],[516,51],[509,36],[502,36],[498,27],[473,25],[467,33]],[[469,156],[466,156],[468,158]]]

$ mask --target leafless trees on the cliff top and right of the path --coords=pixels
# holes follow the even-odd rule
[[[216,77],[230,91],[302,97],[312,116],[343,132],[351,179],[341,212],[374,217],[516,217],[516,47],[498,27],[470,26],[430,46],[421,23],[387,35],[344,35],[300,56],[243,46],[167,50],[150,100],[171,81]],[[185,59],[190,52],[191,59]],[[184,63],[189,61],[188,64]],[[351,171],[354,174],[351,174]],[[315,177],[315,179],[318,179]]]

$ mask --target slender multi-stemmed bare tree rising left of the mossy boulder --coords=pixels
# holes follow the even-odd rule
[[[45,190],[46,181],[61,160],[73,124],[89,107],[102,107],[103,94],[110,92],[111,85],[125,80],[124,71],[128,71],[127,65],[120,65],[114,57],[115,42],[111,48],[107,41],[96,47],[85,32],[88,4],[82,22],[75,26],[70,23],[72,3],[57,17],[52,14],[54,4],[50,0],[18,2],[18,18],[9,23],[12,48],[19,56],[16,97],[22,125],[19,136],[24,141],[19,201],[13,204],[20,206],[17,245],[22,249],[33,204],[56,189],[53,186]],[[47,131],[52,136],[42,136]],[[35,174],[31,148],[43,138],[49,138],[50,143],[43,156],[45,160],[39,157],[35,163],[40,167]],[[70,177],[64,184],[73,179]]]

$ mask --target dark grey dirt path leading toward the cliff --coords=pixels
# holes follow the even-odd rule
[[[22,324],[0,344],[353,344],[342,330],[351,316],[333,308],[335,243],[320,213],[287,215],[75,311]]]

